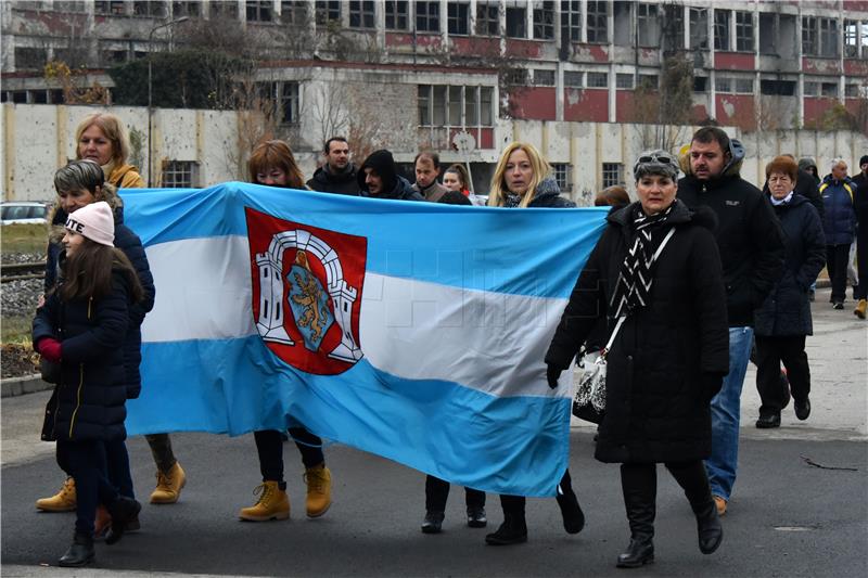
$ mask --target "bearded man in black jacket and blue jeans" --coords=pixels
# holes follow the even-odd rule
[[[717,215],[729,321],[729,374],[712,400],[712,455],[705,461],[717,511],[726,512],[736,483],[741,387],[753,345],[753,310],[783,269],[783,233],[763,193],[739,176],[744,149],[716,127],[699,129],[678,198]]]

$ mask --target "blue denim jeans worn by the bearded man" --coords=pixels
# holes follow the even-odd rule
[[[712,454],[705,460],[712,493],[729,500],[739,463],[741,386],[753,345],[753,327],[729,327],[729,374],[712,399]]]

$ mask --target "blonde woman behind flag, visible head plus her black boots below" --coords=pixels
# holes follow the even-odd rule
[[[492,177],[489,207],[507,208],[571,208],[572,201],[561,196],[551,167],[533,144],[512,142],[503,150]],[[563,527],[567,534],[578,534],[585,527],[585,513],[572,487],[567,468],[556,487]],[[510,545],[527,541],[524,496],[500,496],[503,523],[485,537],[490,545]]]

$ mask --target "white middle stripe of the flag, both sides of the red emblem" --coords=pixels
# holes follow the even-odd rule
[[[256,334],[246,237],[188,239],[146,251],[156,304],[142,325],[143,342]],[[408,380],[443,380],[497,396],[566,396],[572,372],[552,393],[542,361],[565,305],[368,272],[361,349],[373,367]]]

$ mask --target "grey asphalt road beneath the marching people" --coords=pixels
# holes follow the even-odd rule
[[[814,412],[797,422],[787,410],[783,426],[757,431],[753,376],[742,397],[740,471],[724,543],[699,552],[695,523],[680,489],[659,468],[656,562],[635,576],[868,575],[868,324],[832,311],[818,295],[815,337],[808,341],[814,370]],[[38,441],[49,394],[2,402],[3,576],[623,576],[614,568],[628,541],[616,465],[593,460],[592,429],[571,435],[571,472],[587,515],[577,536],[566,535],[553,499],[527,504],[526,544],[494,548],[484,535],[502,519],[488,497],[489,528],[464,525],[463,492],[455,488],[444,532],[422,535],[424,476],[387,460],[333,445],[327,461],[334,477],[334,504],[320,519],[304,517],[302,465],[285,445],[293,515],[288,522],[243,523],[240,508],[255,500],[258,465],[253,436],[206,434],[173,437],[188,472],[174,505],[145,504],[142,529],[113,547],[98,544],[97,563],[78,571],[53,567],[68,545],[74,514],[44,514],[34,500],[53,493],[63,479],[53,446]],[[578,424],[577,424],[578,425]],[[395,440],[399,442],[399,440]],[[133,480],[146,499],[153,463],[140,437],[129,441]],[[815,465],[809,464],[809,460]],[[822,466],[822,467],[820,467]]]

